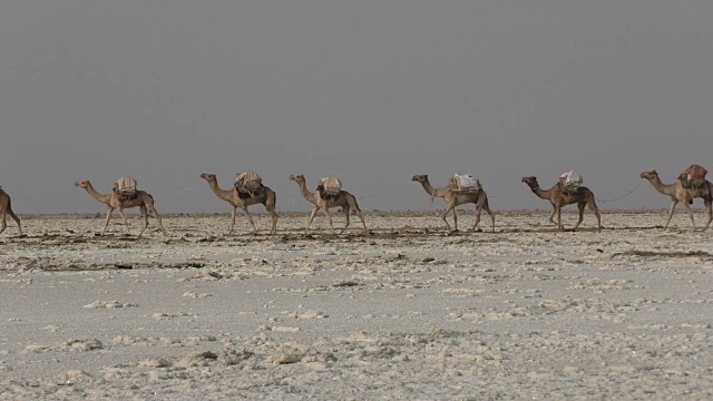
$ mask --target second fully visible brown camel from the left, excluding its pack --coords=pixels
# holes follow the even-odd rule
[[[250,215],[250,212],[247,212],[247,206],[257,205],[257,204],[263,204],[265,206],[265,209],[267,211],[267,213],[270,213],[270,216],[272,217],[272,228],[270,229],[270,234],[272,235],[277,233],[279,216],[277,216],[277,213],[275,212],[275,203],[277,202],[277,197],[274,190],[270,189],[266,186],[263,186],[260,193],[256,194],[255,196],[241,197],[235,186],[233,186],[231,189],[221,188],[218,186],[218,179],[216,178],[215,174],[203,173],[201,174],[201,178],[208,182],[208,185],[211,186],[211,189],[213,189],[213,193],[215,194],[215,196],[229,203],[231,206],[233,207],[231,229],[227,232],[227,235],[233,234],[233,228],[235,227],[235,212],[237,211],[238,207],[241,208],[241,211],[243,211],[243,214],[247,217],[247,219],[250,221],[250,224],[253,226],[253,234],[257,234],[255,222],[253,222],[253,217]]]

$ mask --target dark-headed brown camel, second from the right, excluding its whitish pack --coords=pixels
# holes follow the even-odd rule
[[[564,227],[561,225],[561,208],[567,205],[577,204],[579,208],[579,219],[577,224],[572,231],[577,231],[579,224],[584,219],[584,208],[589,205],[589,209],[597,217],[597,228],[602,231],[602,217],[599,216],[599,209],[597,208],[597,204],[594,200],[594,193],[589,190],[587,187],[580,186],[576,192],[568,193],[563,190],[561,184],[557,182],[555,186],[549,189],[541,189],[539,184],[537,183],[536,177],[522,177],[522,183],[527,184],[530,187],[533,193],[543,199],[549,200],[549,203],[555,208],[553,214],[549,216],[549,222],[557,225],[557,229],[563,231]],[[557,223],[555,223],[554,217],[557,214]]]

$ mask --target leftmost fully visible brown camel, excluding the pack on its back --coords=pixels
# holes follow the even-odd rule
[[[160,231],[164,233],[164,235],[166,235],[166,229],[164,229],[164,224],[160,221],[160,216],[158,215],[158,212],[156,212],[156,207],[154,207],[154,197],[149,193],[145,190],[137,190],[135,198],[124,199],[121,198],[121,195],[116,192],[111,192],[110,194],[99,194],[94,188],[94,186],[91,186],[91,183],[89,183],[88,179],[78,180],[75,183],[75,186],[85,188],[87,193],[91,195],[92,198],[107,205],[108,207],[107,221],[104,224],[101,234],[106,232],[107,226],[109,225],[109,219],[111,218],[111,213],[114,213],[114,209],[117,209],[119,212],[119,215],[121,216],[121,219],[126,225],[126,233],[130,234],[129,223],[126,221],[126,216],[124,215],[124,209],[139,207],[141,211],[141,216],[144,217],[144,227],[141,228],[141,232],[138,233],[138,236],[136,237],[136,239],[140,238],[141,235],[144,234],[144,231],[146,231],[146,227],[148,227],[148,213],[150,213],[154,216],[154,218],[158,221],[158,226],[160,227]]]

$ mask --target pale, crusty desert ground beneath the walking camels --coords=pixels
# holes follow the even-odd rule
[[[448,235],[436,211],[371,212],[332,236],[293,213],[268,236],[261,214],[226,236],[227,214],[174,215],[138,242],[22,216],[0,236],[0,399],[713,399],[713,232],[548,216]]]

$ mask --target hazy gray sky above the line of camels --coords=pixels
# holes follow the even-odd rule
[[[712,68],[710,0],[2,1],[0,184],[18,213],[102,212],[74,182],[125,175],[222,212],[198,175],[256,169],[282,211],[307,209],[291,173],[431,209],[411,176],[463,172],[514,209],[575,169],[612,199],[713,172]]]

